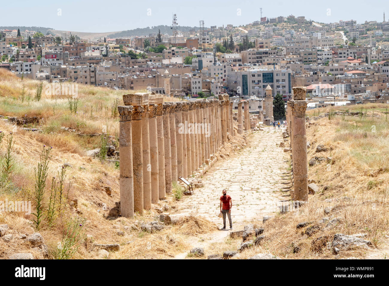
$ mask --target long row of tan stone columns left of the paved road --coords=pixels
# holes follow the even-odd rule
[[[133,217],[172,192],[179,177],[201,174],[234,135],[232,102],[166,102],[161,95],[123,95],[119,106],[121,212]]]

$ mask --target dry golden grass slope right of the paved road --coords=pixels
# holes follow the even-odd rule
[[[357,105],[340,110],[356,112],[360,108]],[[364,239],[370,240],[374,247],[385,244],[385,235],[389,234],[389,130],[385,108],[382,104],[368,104],[363,105],[367,116],[311,120],[314,125],[307,129],[307,140],[312,146],[308,149],[308,161],[314,156],[332,158],[309,167],[308,179],[315,180],[320,191],[309,195],[308,203],[298,211],[278,214],[266,221],[265,239],[259,246],[244,251],[240,258],[271,253],[280,258],[338,259],[363,258],[369,253],[359,248],[333,255],[327,243],[335,233],[366,233]],[[319,114],[329,111],[321,109]],[[373,111],[374,116],[380,117],[373,117]],[[307,113],[318,115],[317,110]],[[319,144],[331,150],[317,153]],[[326,207],[332,207],[328,214],[324,212]],[[328,221],[319,223],[322,218],[339,220],[326,228]],[[308,236],[307,227],[296,229],[298,223],[305,221],[311,223],[309,226],[317,226],[317,232]],[[259,220],[252,222],[261,224]],[[298,253],[294,253],[295,247],[300,247]]]

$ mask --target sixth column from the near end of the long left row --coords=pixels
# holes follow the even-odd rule
[[[165,144],[165,188],[172,192],[172,151],[170,146],[170,109],[172,105],[163,104],[163,141]]]

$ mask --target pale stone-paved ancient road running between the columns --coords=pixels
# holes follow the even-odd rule
[[[276,146],[283,141],[282,130],[273,127],[254,132],[249,139],[250,146],[217,161],[203,176],[204,187],[185,197],[177,213],[204,216],[220,225],[222,220],[217,215],[223,189],[227,189],[233,201],[233,223],[277,211],[281,201],[290,198],[287,171],[290,153]]]

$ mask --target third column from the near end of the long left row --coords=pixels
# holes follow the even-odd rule
[[[151,158],[149,132],[149,105],[144,105],[142,114],[142,154],[143,154],[143,208],[151,209]]]

